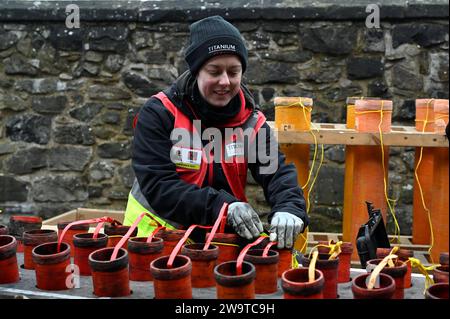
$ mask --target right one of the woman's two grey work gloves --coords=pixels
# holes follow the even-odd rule
[[[276,212],[270,223],[270,241],[278,241],[279,249],[292,248],[303,225],[303,220],[294,214]]]

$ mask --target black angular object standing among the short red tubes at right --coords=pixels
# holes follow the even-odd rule
[[[379,209],[366,201],[369,220],[358,230],[356,249],[358,250],[361,267],[366,268],[367,261],[377,258],[377,248],[390,248],[389,239],[384,226],[383,215]]]

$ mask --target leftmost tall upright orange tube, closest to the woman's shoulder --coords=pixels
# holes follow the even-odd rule
[[[306,97],[276,97],[274,104],[275,129],[278,131],[309,131],[311,129],[312,99]],[[295,165],[300,187],[305,185],[309,172],[309,144],[280,144],[280,149],[286,156],[286,163]],[[308,198],[307,188],[303,190],[303,195],[306,200]],[[305,230],[303,236],[298,237],[294,248],[305,253],[304,238],[307,237],[308,231]]]

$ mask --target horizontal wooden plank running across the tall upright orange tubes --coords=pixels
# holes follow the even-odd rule
[[[268,121],[271,128],[274,122]],[[312,123],[313,129],[308,131],[280,131],[274,130],[280,144],[314,144],[314,136],[318,144],[340,145],[380,145],[379,133],[356,132],[347,129],[345,124]],[[317,130],[314,129],[317,128]],[[391,132],[383,133],[383,144],[386,146],[415,146],[415,147],[449,147],[445,135],[429,132],[417,132],[414,127],[392,126]]]

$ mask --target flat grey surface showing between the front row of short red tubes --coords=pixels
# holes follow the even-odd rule
[[[19,265],[23,264],[23,254],[18,254]],[[355,277],[363,272],[362,269],[353,269],[351,276]],[[36,277],[34,270],[20,268],[21,279],[15,284],[0,285],[0,298],[36,298],[36,299],[73,299],[73,298],[98,298],[93,294],[92,278],[90,276],[80,277],[80,288],[63,291],[43,291],[35,287]],[[420,274],[412,275],[413,286],[405,290],[405,299],[424,299],[424,276]],[[154,297],[152,282],[130,281],[133,293],[122,299],[151,299]],[[351,282],[339,284],[338,294],[340,299],[353,299],[351,292]],[[216,288],[193,288],[194,299],[215,299]],[[256,295],[256,299],[281,299],[283,298],[281,285],[278,283],[278,291],[269,295]]]

